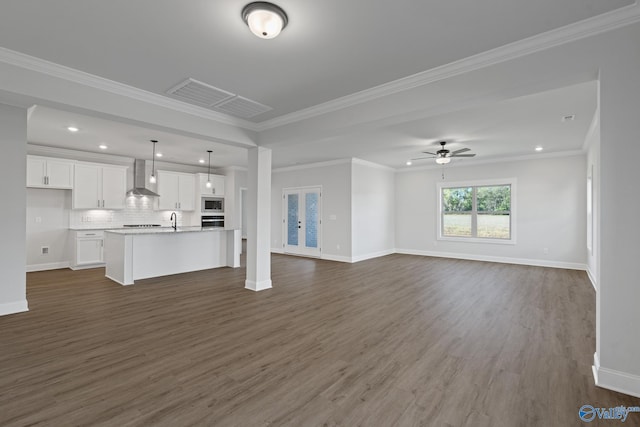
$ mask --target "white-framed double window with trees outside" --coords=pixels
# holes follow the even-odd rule
[[[441,183],[438,190],[439,239],[515,243],[515,179]]]

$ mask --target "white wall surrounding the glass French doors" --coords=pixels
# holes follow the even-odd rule
[[[282,190],[322,186],[322,257],[351,261],[350,159],[331,164],[276,169],[273,171],[271,185],[273,252],[282,252]]]

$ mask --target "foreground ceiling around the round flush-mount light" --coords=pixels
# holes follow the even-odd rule
[[[262,121],[469,57],[633,0],[277,0],[273,40],[249,0],[3,0],[0,44],[164,94],[192,77],[273,107]]]

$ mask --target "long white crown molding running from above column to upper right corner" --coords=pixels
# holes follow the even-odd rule
[[[342,108],[372,101],[416,87],[475,71],[501,62],[516,59],[572,41],[594,36],[640,21],[638,1],[602,15],[594,16],[555,30],[550,30],[526,39],[488,50],[411,76],[381,84],[351,95],[346,95],[322,104],[314,105],[290,114],[258,123],[257,131],[310,119]]]

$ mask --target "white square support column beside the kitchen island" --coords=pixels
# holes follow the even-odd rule
[[[271,150],[249,149],[247,279],[245,288],[271,288]]]

